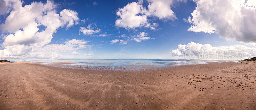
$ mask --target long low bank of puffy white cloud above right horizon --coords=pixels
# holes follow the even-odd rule
[[[228,54],[229,52],[233,52],[233,56],[236,55],[236,52],[243,52],[243,57],[251,58],[256,56],[256,48],[255,47],[247,47],[244,45],[232,45],[232,46],[219,46],[219,47],[212,47],[210,44],[200,44],[200,43],[188,43],[187,45],[178,45],[176,50],[172,50],[169,53],[172,53],[172,56],[185,56],[185,52],[187,50],[192,51],[195,55],[200,52],[211,52],[211,53],[218,53],[223,52],[223,54]]]

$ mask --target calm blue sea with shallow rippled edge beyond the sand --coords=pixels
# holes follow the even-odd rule
[[[113,70],[113,71],[134,71],[147,69],[163,69],[181,65],[195,65],[206,63],[219,63],[236,60],[185,60],[185,59],[51,59],[31,60],[16,62],[36,62],[37,64],[85,69],[85,70]]]

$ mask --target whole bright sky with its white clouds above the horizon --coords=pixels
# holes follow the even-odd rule
[[[251,58],[255,6],[255,0],[0,0],[0,59],[184,59],[187,49]]]

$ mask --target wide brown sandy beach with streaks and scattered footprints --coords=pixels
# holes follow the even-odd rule
[[[0,64],[0,109],[256,109],[256,63],[98,71]]]

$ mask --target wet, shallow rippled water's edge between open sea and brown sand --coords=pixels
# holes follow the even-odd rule
[[[181,64],[157,64],[157,65],[130,65],[130,64],[117,64],[117,65],[96,65],[98,63],[69,63],[69,62],[12,62],[12,63],[33,63],[51,67],[81,69],[81,70],[102,70],[102,71],[141,71],[141,70],[163,70],[171,67],[178,67],[183,65],[200,65],[209,63],[222,63],[222,62],[237,62],[237,61],[214,61],[214,62],[200,62],[200,63],[181,63]],[[95,64],[95,65],[86,65]],[[101,64],[101,63],[99,63]]]

